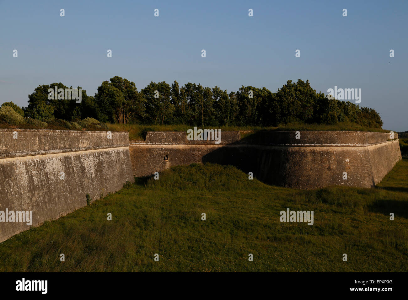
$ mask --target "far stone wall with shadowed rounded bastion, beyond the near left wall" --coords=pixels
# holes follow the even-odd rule
[[[259,136],[218,145],[131,144],[133,173],[150,176],[175,165],[213,162],[234,165],[284,187],[373,187],[401,159],[398,140],[388,140],[388,133],[301,131],[300,139],[295,131],[262,134],[266,140],[259,144],[250,143]]]

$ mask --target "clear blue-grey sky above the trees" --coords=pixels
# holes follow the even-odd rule
[[[27,106],[35,87],[52,82],[93,96],[113,76],[139,91],[177,80],[228,92],[275,92],[300,78],[325,94],[361,88],[359,105],[377,110],[384,129],[406,131],[407,18],[406,0],[0,0],[0,103]]]

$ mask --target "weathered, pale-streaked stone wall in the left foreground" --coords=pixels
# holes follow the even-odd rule
[[[57,130],[0,136],[0,211],[33,211],[31,226],[0,222],[0,242],[86,206],[86,194],[95,200],[134,181],[128,144],[123,147],[127,132],[112,132],[112,139],[106,132]]]

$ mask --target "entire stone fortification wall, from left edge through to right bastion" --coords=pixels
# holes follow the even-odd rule
[[[129,142],[128,132],[0,129],[0,242],[118,191],[134,176],[176,165],[231,164],[297,189],[368,188],[399,160],[398,136],[378,132],[260,131],[241,138],[222,131],[215,143],[187,140],[186,132],[148,132]],[[32,223],[5,222],[5,211],[32,211]]]

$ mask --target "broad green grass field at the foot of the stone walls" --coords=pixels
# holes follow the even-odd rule
[[[279,222],[286,208],[313,210],[314,224]],[[0,271],[408,271],[408,160],[373,189],[311,191],[231,166],[174,167],[0,243],[0,261]]]

